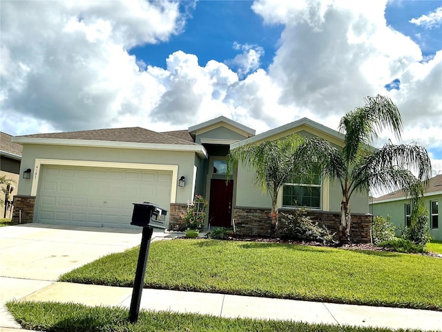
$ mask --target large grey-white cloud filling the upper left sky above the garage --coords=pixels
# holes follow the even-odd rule
[[[127,92],[146,84],[146,75],[127,49],[167,40],[182,24],[177,3],[166,1],[4,1],[3,116],[75,130],[103,127],[122,108],[142,107]],[[13,124],[3,116],[3,125]]]

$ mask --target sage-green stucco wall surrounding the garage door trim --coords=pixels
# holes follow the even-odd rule
[[[152,151],[143,149],[118,149],[107,147],[73,147],[64,145],[24,145],[21,160],[21,173],[24,169],[32,169],[32,178],[35,177],[35,164],[39,159],[81,160],[124,164],[131,168],[131,164],[176,165],[177,176],[184,176],[186,183],[193,183],[195,153],[191,151]],[[37,169],[37,172],[39,170]],[[32,178],[20,183],[19,194],[30,195]],[[173,185],[177,186],[177,183]],[[186,203],[191,200],[192,185],[177,187],[176,203]]]

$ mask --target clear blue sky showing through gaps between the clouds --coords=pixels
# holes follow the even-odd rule
[[[146,64],[166,68],[166,57],[175,50],[198,55],[200,65],[211,59],[226,62],[233,59],[238,50],[234,43],[260,45],[265,50],[261,66],[267,68],[278,49],[278,39],[284,26],[282,24],[265,25],[251,9],[253,1],[223,0],[199,1],[190,12],[184,32],[171,37],[169,42],[144,45],[133,48],[130,53]],[[426,28],[410,23],[422,15],[442,6],[442,0],[394,0],[385,8],[387,24],[394,30],[410,37],[419,44],[424,57],[433,57],[442,49],[441,26]],[[388,82],[385,82],[386,84]]]

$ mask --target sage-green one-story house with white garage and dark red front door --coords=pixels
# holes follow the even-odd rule
[[[241,166],[227,182],[226,157],[238,145],[291,133],[320,136],[343,146],[337,131],[306,118],[257,136],[255,130],[223,116],[164,133],[136,127],[18,136],[14,141],[23,145],[21,172],[30,168],[32,176],[20,183],[16,210],[20,205],[22,218],[33,222],[131,227],[132,203],[149,201],[169,211],[173,228],[187,203],[202,194],[209,201],[206,227],[230,227],[234,218],[244,232],[258,234],[261,231],[246,224],[260,219],[256,213],[267,213],[268,220],[265,211],[271,200],[254,186],[253,173]],[[325,213],[322,219],[339,219],[340,187],[321,180],[296,186],[309,200],[308,208]],[[294,208],[289,201],[293,197],[283,198],[281,193],[280,206]],[[368,194],[352,199],[352,212],[365,217]],[[267,226],[262,230],[267,232]]]

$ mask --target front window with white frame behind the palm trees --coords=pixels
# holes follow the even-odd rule
[[[294,176],[282,188],[282,206],[320,209],[320,186],[320,174],[304,181]]]

